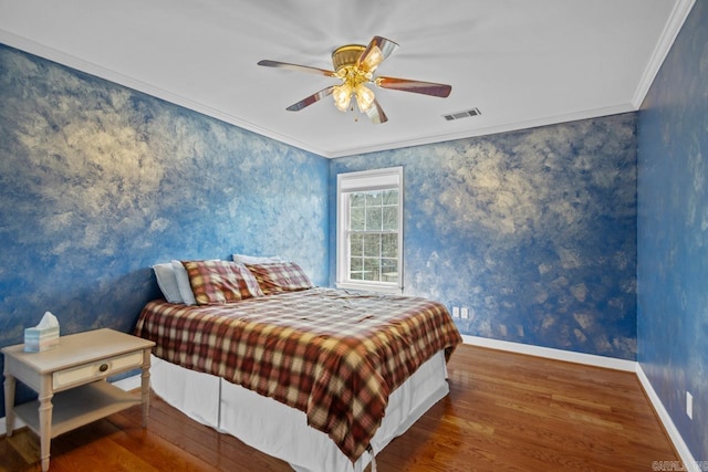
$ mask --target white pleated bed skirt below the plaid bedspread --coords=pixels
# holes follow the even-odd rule
[[[308,426],[305,413],[300,410],[155,356],[152,363],[150,385],[167,403],[202,424],[284,460],[298,472],[363,472],[372,461],[364,452],[352,464],[324,432]],[[375,453],[448,394],[446,379],[445,355],[439,352],[391,395],[382,426],[372,439]],[[248,470],[248,464],[243,468]]]

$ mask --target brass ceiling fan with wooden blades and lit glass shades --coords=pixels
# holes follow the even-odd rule
[[[289,106],[287,109],[290,112],[299,112],[329,95],[333,96],[334,105],[341,112],[353,111],[354,105],[352,104],[352,97],[354,97],[360,112],[366,114],[372,123],[378,124],[387,122],[388,118],[378,104],[378,101],[376,101],[374,92],[368,88],[366,84],[374,84],[381,88],[413,92],[442,98],[447,97],[452,90],[450,85],[446,84],[375,76],[374,72],[376,67],[397,48],[397,43],[382,36],[374,36],[367,46],[347,44],[337,48],[332,53],[334,71],[269,60],[260,61],[258,65],[310,72],[327,77],[336,77],[342,81],[340,85],[331,85]]]

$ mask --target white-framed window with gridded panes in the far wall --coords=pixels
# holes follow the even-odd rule
[[[403,167],[337,176],[336,286],[403,290]]]

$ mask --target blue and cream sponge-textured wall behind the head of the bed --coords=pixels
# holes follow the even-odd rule
[[[327,168],[0,45],[0,346],[45,311],[131,331],[170,259],[281,254],[326,284]]]

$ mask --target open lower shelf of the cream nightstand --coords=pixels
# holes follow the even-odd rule
[[[52,398],[54,408],[51,437],[56,438],[72,429],[140,405],[140,402],[139,396],[121,390],[104,380],[60,391],[54,394]],[[39,400],[14,407],[15,415],[38,434],[40,433],[39,407]]]

